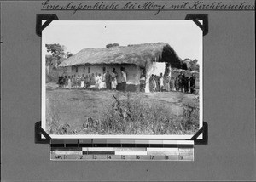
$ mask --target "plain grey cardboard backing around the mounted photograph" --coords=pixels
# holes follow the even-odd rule
[[[255,180],[254,12],[54,12],[60,20],[183,20],[209,15],[204,37],[204,121],[195,162],[50,162],[34,143],[40,120],[40,3],[2,3],[2,180]]]

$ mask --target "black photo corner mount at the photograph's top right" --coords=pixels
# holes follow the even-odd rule
[[[193,20],[203,31],[203,36],[208,33],[208,14],[187,14],[185,20]],[[201,24],[199,20],[202,20]]]

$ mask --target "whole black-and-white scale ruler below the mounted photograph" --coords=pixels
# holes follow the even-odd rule
[[[74,140],[53,140],[50,144],[50,160],[52,161],[194,161],[195,145],[191,140],[159,141],[137,140],[131,145],[122,143],[113,145],[84,145],[72,143]],[[146,141],[146,143],[145,143]],[[113,142],[113,141],[112,141]],[[144,142],[144,143],[143,143]],[[78,145],[77,145],[78,144]],[[83,144],[82,146],[79,144]],[[110,143],[108,143],[110,144]],[[114,146],[114,144],[118,144]],[[137,144],[137,145],[135,145]],[[150,145],[151,144],[151,145]],[[165,145],[164,145],[165,144]],[[100,145],[100,146],[99,146]],[[104,145],[104,146],[102,146]]]

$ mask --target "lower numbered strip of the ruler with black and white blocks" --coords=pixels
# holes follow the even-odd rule
[[[83,147],[81,151],[50,151],[50,160],[194,161],[194,148]]]

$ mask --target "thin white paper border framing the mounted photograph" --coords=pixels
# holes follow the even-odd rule
[[[56,21],[56,20],[53,20]],[[57,20],[57,21],[71,21],[71,20]],[[92,20],[72,20],[72,21],[92,21]],[[93,20],[93,21],[138,21],[138,20]],[[160,21],[160,20],[142,20],[142,21]],[[176,20],[162,20],[162,21],[176,21]],[[193,20],[178,20],[178,21],[193,21]],[[42,21],[42,24],[44,24],[45,20]],[[202,20],[200,20],[202,24]],[[201,28],[198,26],[198,28],[201,30]],[[45,28],[47,29],[47,27]],[[42,38],[41,38],[41,127],[45,130],[46,129],[46,77],[45,77],[45,54],[43,51],[43,48],[45,46],[45,36],[44,31],[42,31]],[[199,128],[198,130],[203,126],[203,31],[201,30],[201,65],[200,67],[200,89],[199,89],[199,104],[200,104],[200,119],[199,119]],[[49,134],[49,136],[52,139],[191,139],[194,134],[188,134],[188,135],[81,135],[81,134]],[[44,137],[44,136],[42,136]],[[202,134],[198,137],[198,139],[202,139]]]

